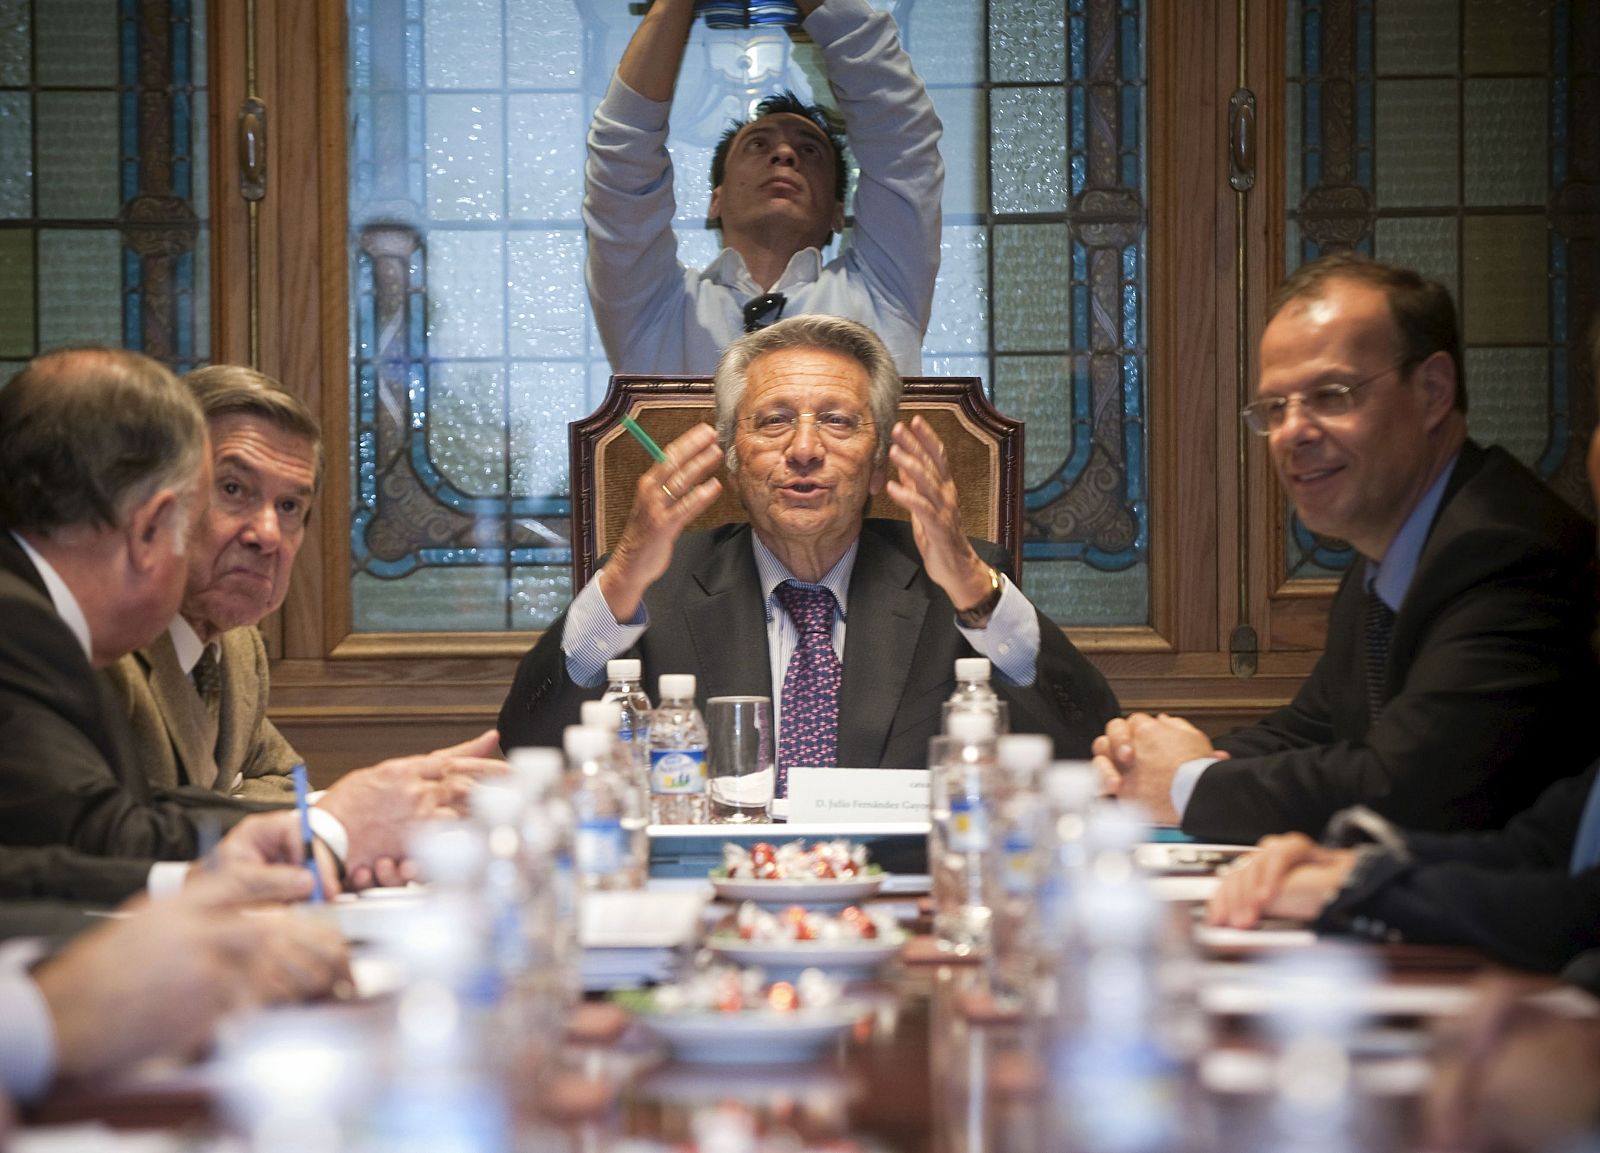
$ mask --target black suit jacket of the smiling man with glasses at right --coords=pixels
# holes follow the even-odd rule
[[[1184,811],[1202,840],[1254,841],[1366,804],[1421,830],[1498,828],[1600,752],[1594,526],[1507,453],[1467,441],[1395,617],[1370,724],[1366,561],[1294,700],[1216,747]]]

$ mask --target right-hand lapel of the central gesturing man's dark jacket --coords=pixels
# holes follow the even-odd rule
[[[883,758],[928,616],[926,593],[912,587],[917,573],[910,557],[870,531],[861,534],[845,627],[840,766],[874,766]]]

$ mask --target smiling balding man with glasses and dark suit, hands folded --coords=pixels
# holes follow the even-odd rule
[[[1294,700],[1214,745],[1114,720],[1110,792],[1202,840],[1322,832],[1365,804],[1421,830],[1498,828],[1600,752],[1571,728],[1600,676],[1594,526],[1467,438],[1456,312],[1418,273],[1330,254],[1278,289],[1245,424],[1299,520],[1357,561]]]

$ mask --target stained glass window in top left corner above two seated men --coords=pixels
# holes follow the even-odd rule
[[[0,0],[0,379],[210,353],[203,0]]]

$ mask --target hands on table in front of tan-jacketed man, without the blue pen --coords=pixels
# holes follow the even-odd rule
[[[395,756],[339,777],[317,804],[350,836],[346,888],[410,881],[406,835],[413,822],[461,816],[472,782],[506,771],[498,753],[499,734],[490,729],[459,745]]]

